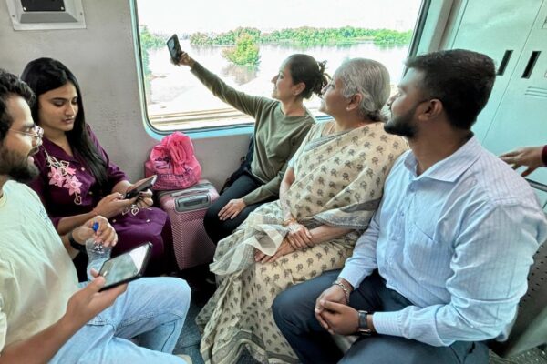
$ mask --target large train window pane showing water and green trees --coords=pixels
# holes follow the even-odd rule
[[[172,34],[201,65],[253,95],[271,95],[272,77],[294,53],[326,60],[330,74],[346,58],[377,59],[397,85],[422,8],[422,0],[133,1],[144,109],[158,131],[253,123],[188,67],[170,63],[165,42]],[[320,116],[319,103],[313,96],[305,105]]]

